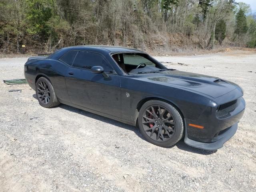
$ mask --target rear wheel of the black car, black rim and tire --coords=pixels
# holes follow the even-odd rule
[[[51,82],[45,77],[40,77],[36,82],[36,98],[39,104],[45,108],[51,108],[60,104]]]

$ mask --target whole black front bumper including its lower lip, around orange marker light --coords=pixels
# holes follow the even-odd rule
[[[216,115],[216,109],[206,108],[197,120],[185,119],[186,133],[184,142],[190,146],[205,150],[221,148],[236,133],[238,122],[242,118],[244,110],[245,101],[240,97],[231,108],[226,108],[226,116],[219,117]],[[204,126],[204,128],[191,127],[189,124],[197,124]]]

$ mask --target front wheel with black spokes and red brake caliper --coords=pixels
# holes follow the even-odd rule
[[[150,100],[143,104],[138,125],[148,142],[161,147],[173,146],[184,132],[183,119],[178,110],[162,100]]]

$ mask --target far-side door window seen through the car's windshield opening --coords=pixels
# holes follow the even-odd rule
[[[145,58],[143,55],[138,54],[123,54],[124,56],[124,64],[130,65],[139,65],[141,63],[145,63],[146,65],[156,66],[152,61]]]

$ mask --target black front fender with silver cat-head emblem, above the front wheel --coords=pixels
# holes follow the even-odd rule
[[[136,84],[136,87],[134,87],[134,84]],[[126,88],[122,86],[121,116],[123,119],[129,121],[136,120],[135,112],[137,108],[139,109],[146,101],[151,99],[162,99],[174,104],[174,106],[180,110],[184,118],[192,120],[198,119],[204,110],[212,105],[212,100],[210,98],[188,90],[179,90],[172,87],[157,85],[157,92],[154,92],[154,90],[156,90],[154,89],[154,86],[155,85],[148,82],[144,82],[141,85],[138,82],[129,82],[129,85],[126,86]]]

